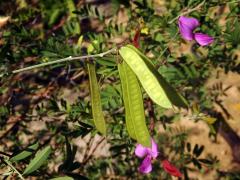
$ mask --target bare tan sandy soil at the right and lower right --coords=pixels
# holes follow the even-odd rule
[[[212,87],[216,87],[216,84],[219,84],[219,86],[222,84],[222,89],[227,88],[227,91],[225,92],[226,96],[220,98],[222,105],[230,115],[228,118],[225,117],[225,120],[232,130],[240,136],[240,75],[233,72],[225,74],[223,70],[217,70],[208,80],[206,87],[212,89]],[[214,105],[214,108],[225,116],[224,112],[217,104]],[[221,133],[217,133],[216,141],[209,138],[210,130],[207,123],[204,121],[194,122],[193,120],[183,118],[176,122],[173,127],[184,128],[186,131],[189,131],[187,141],[192,145],[198,144],[205,147],[201,158],[207,157],[210,154],[216,156],[219,160],[219,171],[240,171],[240,164],[234,161],[232,155],[233,147],[229,145],[229,142],[221,135]],[[207,168],[202,173],[193,172],[189,175],[190,178],[199,180],[216,179],[216,171],[213,172]]]

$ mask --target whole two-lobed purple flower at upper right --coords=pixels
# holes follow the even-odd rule
[[[194,33],[198,26],[200,26],[200,23],[195,18],[180,16],[178,19],[178,27],[183,39],[188,41],[195,40],[200,46],[211,44],[214,41],[213,37],[203,33]]]

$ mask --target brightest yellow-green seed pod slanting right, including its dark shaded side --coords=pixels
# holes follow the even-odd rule
[[[164,108],[187,107],[185,99],[159,74],[151,61],[132,45],[119,50],[123,60],[134,71],[149,97]]]

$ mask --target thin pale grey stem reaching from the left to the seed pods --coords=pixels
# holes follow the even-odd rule
[[[116,50],[117,50],[117,48],[113,48],[113,49],[110,49],[110,50],[108,50],[106,52],[103,52],[103,53],[100,53],[100,54],[78,56],[78,57],[69,56],[67,58],[58,59],[58,60],[50,61],[50,62],[46,62],[46,63],[41,63],[41,64],[26,67],[26,68],[22,68],[22,69],[17,69],[17,70],[12,71],[12,73],[16,74],[16,73],[20,73],[20,72],[23,72],[23,71],[28,71],[28,70],[32,70],[32,69],[36,69],[36,68],[40,68],[40,67],[44,67],[44,66],[49,66],[49,65],[52,65],[52,64],[62,63],[62,62],[70,62],[70,61],[80,60],[80,59],[103,57],[107,54],[110,54],[110,53],[116,51]]]

